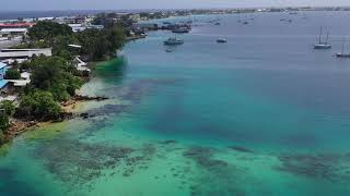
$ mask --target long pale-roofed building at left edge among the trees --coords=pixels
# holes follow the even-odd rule
[[[1,49],[0,50],[0,61],[16,60],[18,62],[23,62],[28,60],[33,56],[46,56],[51,57],[51,48],[40,48],[40,49]]]

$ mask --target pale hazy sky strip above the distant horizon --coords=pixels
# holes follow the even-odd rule
[[[340,7],[350,0],[1,0],[0,11]]]

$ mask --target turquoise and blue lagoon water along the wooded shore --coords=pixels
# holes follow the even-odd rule
[[[350,13],[170,20],[188,19],[173,52],[150,33],[97,68],[81,91],[112,99],[90,119],[4,146],[0,195],[349,195],[350,61],[332,56]],[[331,50],[313,50],[320,25]]]

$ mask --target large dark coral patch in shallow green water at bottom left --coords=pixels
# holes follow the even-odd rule
[[[55,145],[52,145],[55,144]],[[147,169],[155,148],[144,145],[140,149],[107,144],[86,144],[60,139],[38,148],[36,156],[45,160],[47,169],[65,183],[83,185],[105,175],[130,176],[137,169]]]

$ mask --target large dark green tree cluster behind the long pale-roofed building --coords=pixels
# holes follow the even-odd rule
[[[106,23],[106,22],[101,22]],[[73,33],[66,24],[54,22],[38,22],[30,28],[30,41],[20,48],[51,47],[52,54],[72,60],[77,54],[90,61],[108,59],[125,42],[125,32],[121,25],[106,24],[104,29],[85,29]],[[70,48],[68,45],[80,45],[81,49]]]

